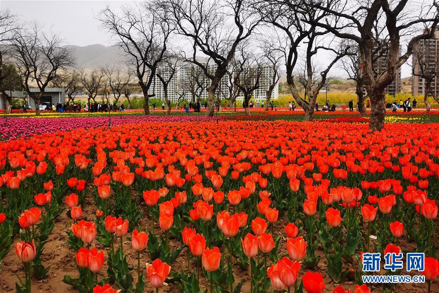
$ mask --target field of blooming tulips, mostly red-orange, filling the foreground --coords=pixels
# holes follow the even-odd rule
[[[439,116],[294,115],[1,122],[0,292],[439,293]]]

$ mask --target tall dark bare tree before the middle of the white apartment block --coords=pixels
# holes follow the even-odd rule
[[[250,0],[167,0],[179,34],[192,42],[192,56],[187,61],[198,65],[209,78],[208,116],[213,116],[215,93],[238,44],[247,39],[259,19],[250,9]],[[207,62],[197,53],[208,56]],[[215,64],[211,70],[209,61]]]

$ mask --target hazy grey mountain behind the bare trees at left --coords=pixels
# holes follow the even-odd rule
[[[75,45],[65,47],[72,49],[78,68],[100,68],[106,65],[121,64],[124,60],[124,52],[117,46],[94,44],[83,47]]]

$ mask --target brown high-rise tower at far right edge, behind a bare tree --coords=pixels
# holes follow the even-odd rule
[[[426,71],[439,72],[439,31],[435,31],[432,39],[420,40],[414,49],[413,54],[413,76],[412,76],[412,95],[423,95],[425,89],[424,79],[417,76],[419,74],[419,63]],[[421,62],[418,58],[423,58]],[[435,77],[431,84],[431,90],[439,95],[439,78]]]

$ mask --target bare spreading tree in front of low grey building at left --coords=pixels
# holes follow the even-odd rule
[[[36,23],[29,30],[20,30],[13,41],[13,58],[22,76],[21,84],[35,102],[36,115],[40,115],[40,99],[48,84],[60,71],[74,64],[71,50],[62,46],[59,36],[44,33]],[[31,91],[37,85],[38,91]]]

